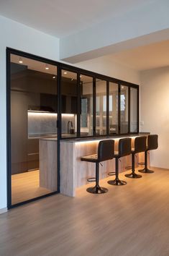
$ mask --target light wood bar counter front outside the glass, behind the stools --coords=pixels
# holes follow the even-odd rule
[[[139,135],[128,135],[119,137],[101,137],[75,140],[60,141],[60,192],[63,195],[71,197],[76,196],[76,188],[88,184],[87,179],[95,176],[95,164],[81,161],[81,157],[97,153],[100,140],[112,139],[115,141],[115,150],[118,151],[118,141],[122,137],[132,138],[132,148],[134,138],[137,136],[148,135],[148,133]],[[138,162],[144,162],[144,153],[137,154],[135,166]],[[125,156],[119,161],[119,172],[126,171],[126,166],[131,166],[132,155]],[[100,166],[100,179],[108,176],[110,171],[115,171],[115,160],[102,162]]]

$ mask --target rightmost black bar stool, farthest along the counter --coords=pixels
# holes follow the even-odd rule
[[[145,150],[145,168],[139,170],[142,174],[152,174],[154,171],[147,168],[147,151],[155,150],[158,147],[158,135],[147,136],[147,149]]]

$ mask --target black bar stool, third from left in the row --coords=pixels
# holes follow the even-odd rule
[[[145,152],[146,146],[146,136],[136,137],[134,140],[134,149],[132,149],[132,173],[125,174],[127,178],[138,179],[141,178],[142,175],[135,173],[135,154]]]

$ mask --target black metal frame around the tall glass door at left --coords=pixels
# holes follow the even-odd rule
[[[18,56],[22,56],[28,59],[33,59],[36,61],[41,61],[47,64],[55,65],[58,69],[58,74],[60,72],[60,68],[55,61],[50,61],[48,59],[44,59],[38,56],[32,56],[31,54],[26,54],[21,51],[17,51],[11,48],[6,48],[6,163],[7,163],[7,208],[15,208],[19,205],[24,205],[27,202],[33,202],[35,200],[39,200],[40,198],[49,197],[50,195],[55,195],[60,192],[60,76],[57,74],[57,90],[58,90],[58,116],[57,116],[57,134],[58,134],[58,143],[57,143],[57,157],[58,157],[58,190],[55,192],[51,192],[47,195],[42,195],[40,197],[35,197],[23,202],[19,202],[17,204],[12,205],[12,158],[11,158],[11,82],[10,82],[10,56],[11,54],[15,54]]]

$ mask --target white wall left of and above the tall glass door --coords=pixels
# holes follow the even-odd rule
[[[0,16],[0,209],[6,208],[6,47],[59,59],[59,39]]]

